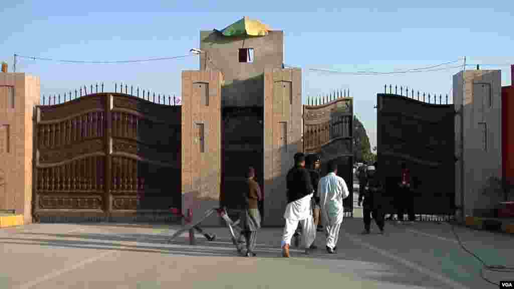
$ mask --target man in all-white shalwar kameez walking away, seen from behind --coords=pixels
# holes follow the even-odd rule
[[[337,251],[339,230],[343,222],[343,199],[350,195],[344,179],[337,175],[337,162],[328,163],[328,174],[318,184],[321,212],[326,225],[326,250],[329,254]]]

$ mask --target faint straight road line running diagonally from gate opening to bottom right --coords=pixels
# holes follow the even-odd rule
[[[451,286],[453,288],[469,289],[469,287],[464,286],[463,284],[455,282],[455,281],[453,281],[451,279],[448,279],[448,278],[444,277],[443,275],[435,273],[435,272],[433,272],[432,270],[430,270],[428,268],[421,267],[421,266],[419,266],[419,265],[417,265],[417,264],[415,264],[413,262],[410,262],[409,260],[403,259],[403,258],[401,258],[401,257],[399,257],[397,255],[394,255],[391,252],[379,249],[379,248],[377,248],[377,247],[375,247],[375,246],[373,246],[371,244],[368,244],[368,243],[364,242],[362,239],[359,239],[359,238],[351,236],[348,233],[344,233],[344,234],[345,234],[346,238],[352,240],[354,243],[360,244],[360,245],[362,245],[362,246],[364,246],[364,247],[366,247],[366,248],[368,248],[368,249],[370,249],[372,251],[377,252],[378,254],[380,254],[380,255],[382,255],[384,257],[388,257],[390,259],[393,259],[394,261],[396,261],[396,262],[398,262],[398,263],[400,263],[402,265],[405,265],[405,266],[407,266],[407,267],[409,267],[411,269],[414,269],[414,270],[416,270],[417,272],[419,272],[421,274],[425,274],[427,276],[430,276],[431,278],[436,279],[436,280],[438,280],[440,282],[443,282],[443,283],[445,283],[445,284],[447,284],[447,285],[449,285],[449,286]]]

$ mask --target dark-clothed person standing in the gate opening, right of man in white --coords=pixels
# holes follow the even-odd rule
[[[369,234],[371,227],[371,216],[383,234],[384,231],[384,214],[382,212],[382,200],[380,193],[382,190],[382,184],[380,178],[376,175],[376,168],[378,167],[377,162],[373,167],[368,167],[368,190],[364,191],[364,194],[359,193],[359,206],[364,198],[363,215],[364,215],[364,231],[362,233]]]

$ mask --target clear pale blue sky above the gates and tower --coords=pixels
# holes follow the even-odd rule
[[[426,67],[449,61],[501,69],[510,85],[514,1],[1,1],[0,61],[13,55],[58,60],[137,60],[185,56],[199,30],[222,29],[244,16],[284,31],[284,63],[302,68],[303,99],[349,89],[354,113],[376,146],[376,94],[384,84],[450,94],[461,68],[393,75],[342,72]],[[19,59],[17,72],[41,78],[41,93],[104,82],[180,96],[182,70],[197,56],[132,64],[63,64]],[[474,67],[468,67],[474,69]],[[451,94],[450,94],[451,95]],[[451,97],[450,97],[451,101]]]

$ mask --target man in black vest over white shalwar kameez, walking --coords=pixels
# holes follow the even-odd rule
[[[289,257],[289,245],[300,222],[303,229],[305,254],[309,254],[309,247],[316,237],[314,227],[311,198],[313,197],[313,186],[310,183],[309,172],[305,169],[305,155],[295,154],[295,167],[287,173],[287,206],[284,212],[286,224],[282,238],[282,256]]]

